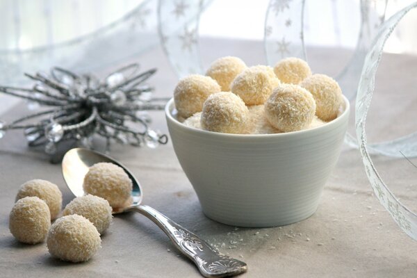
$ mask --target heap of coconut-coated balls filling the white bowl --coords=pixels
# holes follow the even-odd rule
[[[174,90],[178,119],[206,131],[268,134],[311,129],[334,120],[343,104],[338,83],[312,74],[300,58],[275,67],[247,67],[240,58],[215,60],[206,76],[191,74]]]

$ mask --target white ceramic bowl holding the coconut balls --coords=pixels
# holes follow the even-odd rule
[[[291,133],[236,135],[194,129],[165,107],[175,154],[213,220],[272,227],[311,216],[338,160],[350,105],[332,122]]]

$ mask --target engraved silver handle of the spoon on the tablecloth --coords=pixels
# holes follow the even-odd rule
[[[221,254],[196,234],[184,229],[150,206],[131,206],[126,208],[126,211],[137,211],[157,224],[178,250],[194,261],[204,277],[230,277],[247,270],[247,265],[243,261]]]

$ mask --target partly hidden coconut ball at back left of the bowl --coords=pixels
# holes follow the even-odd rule
[[[206,75],[217,81],[222,91],[228,92],[231,82],[245,69],[246,64],[243,60],[240,60],[238,57],[227,56],[218,58],[211,63]]]

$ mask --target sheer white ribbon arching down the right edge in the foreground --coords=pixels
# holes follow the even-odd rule
[[[400,201],[391,193],[388,186],[382,181],[379,176],[372,159],[370,158],[370,151],[373,149],[368,147],[366,142],[366,115],[368,113],[370,102],[375,90],[375,74],[377,67],[382,56],[384,44],[393,32],[398,22],[406,15],[409,10],[417,8],[417,2],[412,3],[410,6],[403,8],[398,13],[395,13],[379,28],[373,47],[370,49],[365,58],[361,79],[359,81],[359,87],[357,92],[357,101],[355,107],[355,126],[357,133],[357,140],[359,143],[359,151],[361,152],[363,165],[365,166],[366,174],[370,181],[370,185],[379,202],[386,208],[391,214],[395,222],[400,226],[402,231],[409,235],[414,240],[417,240],[417,215],[410,211],[407,207],[402,205]],[[409,136],[404,136],[397,140],[382,143],[380,145],[386,147],[391,154],[394,154],[395,149],[397,153],[395,156],[399,156],[399,148],[403,147],[402,152],[404,154],[416,154],[417,153],[417,133],[411,133]],[[391,145],[390,145],[391,144]],[[373,145],[375,147],[375,145]],[[390,154],[390,153],[386,153]],[[407,155],[406,154],[406,155]]]

